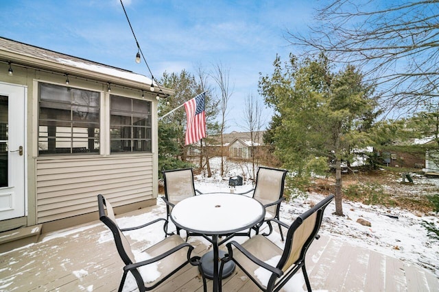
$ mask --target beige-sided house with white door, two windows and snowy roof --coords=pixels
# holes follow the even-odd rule
[[[0,231],[156,204],[157,104],[128,70],[0,38]],[[155,87],[157,88],[157,86]]]

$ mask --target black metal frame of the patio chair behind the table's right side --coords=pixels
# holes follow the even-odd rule
[[[259,171],[260,170],[276,170],[278,172],[283,172],[282,178],[281,178],[281,188],[280,188],[280,191],[279,191],[278,200],[276,200],[274,202],[271,202],[269,204],[264,204],[263,205],[265,207],[265,209],[267,209],[268,207],[271,207],[271,206],[276,206],[276,212],[274,214],[274,218],[277,219],[277,220],[280,220],[279,213],[281,211],[281,202],[284,200],[284,198],[283,198],[283,189],[285,187],[285,176],[287,175],[288,170],[282,170],[282,169],[279,169],[279,168],[266,168],[266,167],[260,166],[258,168],[258,172],[257,172],[257,176],[256,176],[256,185],[254,186],[254,188],[250,189],[249,191],[245,191],[244,193],[237,193],[237,194],[245,195],[245,194],[249,194],[250,192],[253,192],[252,196],[254,198],[255,191],[256,191],[256,189],[258,187],[258,181],[259,181],[258,178],[259,178]],[[255,198],[255,199],[257,200],[257,198]],[[259,228],[261,228],[262,224],[265,222],[268,225],[269,231],[268,231],[268,233],[263,233],[262,235],[268,236],[268,235],[270,235],[273,232],[273,227],[272,227],[271,221],[274,221],[274,220],[272,220],[272,219],[273,218],[268,218],[268,219],[264,220],[261,224],[259,224],[257,226],[254,226],[252,229],[256,231],[256,234],[259,234]],[[283,232],[282,232],[281,224],[278,224],[278,227],[279,227],[279,233],[281,233],[281,239],[283,241],[284,239],[283,239]],[[247,235],[248,237],[250,237],[250,233],[251,233],[252,229],[248,230],[248,233],[246,233],[244,235]]]

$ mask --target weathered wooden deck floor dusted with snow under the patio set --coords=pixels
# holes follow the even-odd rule
[[[156,206],[134,215],[144,212],[165,215]],[[159,236],[152,235],[154,240]],[[193,237],[190,242],[197,254],[209,250],[204,240]],[[134,240],[133,244],[141,250],[151,243]],[[95,221],[46,234],[38,243],[0,254],[0,291],[117,291],[122,267],[110,231]],[[439,291],[439,279],[431,271],[330,236],[311,245],[307,270],[314,290]],[[285,291],[305,291],[302,279],[301,274],[295,276]],[[211,291],[212,282],[208,284]],[[187,266],[155,291],[202,291],[198,269]],[[258,289],[237,269],[223,281],[223,291]]]

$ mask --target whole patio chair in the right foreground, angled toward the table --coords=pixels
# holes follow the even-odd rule
[[[299,269],[302,269],[307,290],[311,292],[311,284],[309,284],[305,267],[305,255],[313,240],[320,237],[317,233],[322,223],[324,209],[333,198],[333,195],[324,198],[297,217],[291,226],[275,218],[272,219],[288,228],[283,250],[263,235],[254,235],[242,245],[236,241],[227,243],[228,252],[222,258],[219,267],[220,275],[224,263],[234,261],[257,284],[259,289],[279,291]],[[221,281],[221,276],[219,279]],[[219,287],[221,287],[221,282]]]

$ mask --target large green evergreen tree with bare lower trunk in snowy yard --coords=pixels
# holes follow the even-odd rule
[[[324,55],[301,62],[292,55],[285,66],[276,57],[274,74],[262,77],[259,89],[277,111],[270,129],[275,153],[296,174],[296,186],[331,162],[335,212],[343,215],[341,163],[352,158],[352,149],[370,143],[368,129],[377,115],[373,87],[353,66],[333,73]]]

